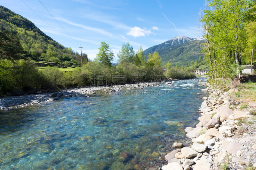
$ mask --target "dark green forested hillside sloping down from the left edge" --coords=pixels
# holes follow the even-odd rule
[[[18,35],[26,57],[33,60],[79,60],[71,48],[64,47],[42,32],[34,23],[15,12],[0,6],[0,31],[8,30]],[[57,60],[58,61],[58,60]]]

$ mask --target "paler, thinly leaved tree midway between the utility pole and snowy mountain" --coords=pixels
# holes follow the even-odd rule
[[[133,51],[132,46],[130,46],[129,43],[123,44],[121,51],[119,51],[119,53],[117,54],[117,57],[119,58],[118,61],[119,63],[128,63],[134,62],[134,54],[135,52]]]

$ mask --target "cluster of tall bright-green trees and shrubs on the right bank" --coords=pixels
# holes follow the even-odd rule
[[[207,1],[200,14],[202,52],[210,63],[208,82],[212,86],[225,85],[226,78],[240,74],[241,65],[256,60],[255,1]]]

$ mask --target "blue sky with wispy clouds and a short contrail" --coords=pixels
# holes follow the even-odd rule
[[[65,47],[94,59],[100,43],[115,55],[129,42],[136,52],[176,36],[197,38],[204,0],[1,0]],[[117,57],[116,57],[117,58]]]

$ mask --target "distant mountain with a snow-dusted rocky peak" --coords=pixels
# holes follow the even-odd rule
[[[198,58],[203,57],[200,53],[200,44],[203,41],[201,38],[178,36],[146,49],[144,54],[147,56],[148,53],[157,52],[164,63],[169,61],[173,65],[187,65],[191,61],[196,61]]]

